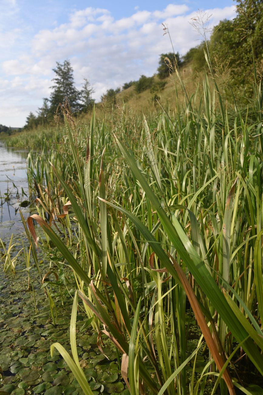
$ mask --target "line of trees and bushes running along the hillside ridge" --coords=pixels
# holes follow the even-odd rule
[[[162,90],[175,68],[191,66],[193,72],[206,69],[212,77],[220,81],[224,94],[231,100],[233,94],[241,101],[252,96],[252,78],[262,79],[263,75],[263,2],[261,0],[238,1],[237,16],[229,21],[221,21],[213,28],[209,40],[205,39],[207,19],[201,13],[192,24],[203,34],[204,40],[191,48],[184,56],[179,53],[161,54],[157,69],[158,79],[141,75],[138,81],[130,81],[117,89],[108,89],[101,96],[102,102],[116,103],[116,95],[121,90],[134,86],[136,94],[150,89],[153,95]],[[252,54],[252,56],[251,56]],[[208,58],[209,57],[209,61]],[[212,68],[208,66],[212,65]],[[254,65],[254,66],[253,66]],[[52,79],[50,98],[43,99],[43,105],[26,119],[25,129],[45,124],[60,114],[60,103],[65,98],[73,113],[87,112],[94,104],[93,89],[88,79],[84,79],[81,90],[74,83],[73,68],[69,60],[57,62]]]

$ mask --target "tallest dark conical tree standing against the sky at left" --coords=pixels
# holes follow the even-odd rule
[[[56,74],[52,79],[53,92],[50,95],[50,113],[54,114],[60,104],[65,99],[69,102],[72,112],[78,111],[80,105],[80,92],[75,88],[73,68],[69,60],[64,60],[63,63],[56,62],[56,68],[52,69]]]

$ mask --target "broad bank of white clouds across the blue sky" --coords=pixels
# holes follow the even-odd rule
[[[213,27],[224,18],[235,17],[235,7],[209,9],[207,13],[212,14],[210,26]],[[195,15],[186,4],[169,4],[151,12],[136,7],[130,17],[117,20],[107,9],[88,7],[75,11],[66,23],[37,32],[26,55],[2,62],[2,87],[6,89],[5,81],[9,81],[7,96],[13,92],[17,97],[18,89],[18,96],[24,95],[24,102],[30,94],[28,113],[37,109],[42,98],[49,94],[56,61],[69,59],[78,87],[88,78],[95,89],[95,98],[99,99],[108,88],[117,88],[141,74],[152,75],[156,71],[160,53],[172,50],[168,37],[163,35],[162,23],[169,26],[175,51],[184,54],[197,45],[200,37],[189,24]],[[16,40],[15,35],[20,32],[12,34]],[[32,97],[35,105],[30,107]],[[26,106],[21,111],[22,108]],[[0,109],[0,117],[1,112]],[[12,108],[9,112],[12,113]],[[21,119],[20,124],[23,122]]]

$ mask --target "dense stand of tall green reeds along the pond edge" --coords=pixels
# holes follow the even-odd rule
[[[85,394],[78,308],[99,347],[103,334],[113,343],[132,395],[252,393],[244,365],[262,380],[261,85],[254,91],[247,109],[230,110],[205,75],[177,111],[154,118],[123,108],[97,121],[94,110],[85,126],[67,109],[63,137],[28,155],[35,263],[34,242],[52,245],[62,258],[50,266],[75,278],[71,355],[58,343],[51,351]],[[190,316],[200,328],[191,351]]]

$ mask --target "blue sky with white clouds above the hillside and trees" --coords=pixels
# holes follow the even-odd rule
[[[235,17],[232,0],[0,0],[0,124],[22,127],[50,96],[56,62],[70,60],[76,87],[87,78],[99,101],[109,88],[153,75],[161,53],[184,55],[202,37],[190,24],[203,11],[209,28]],[[209,32],[207,32],[209,37]]]

